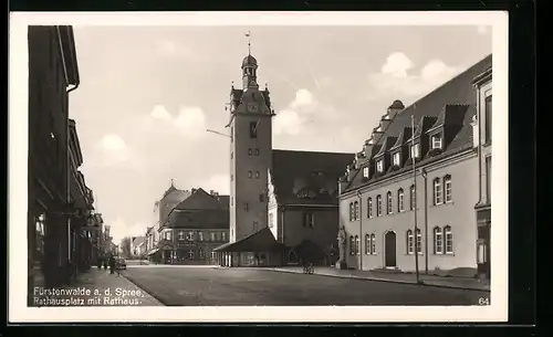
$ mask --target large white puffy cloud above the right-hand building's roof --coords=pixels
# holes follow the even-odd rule
[[[427,94],[459,74],[462,67],[450,66],[444,61],[434,59],[426,63],[419,73],[409,73],[415,66],[413,62],[400,53],[394,53],[386,60],[382,71],[369,74],[372,86],[371,98],[390,96],[404,99],[417,98]]]

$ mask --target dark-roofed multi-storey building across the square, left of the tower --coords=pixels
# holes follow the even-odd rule
[[[159,227],[156,250],[166,264],[211,264],[212,250],[229,240],[229,197],[192,189]]]

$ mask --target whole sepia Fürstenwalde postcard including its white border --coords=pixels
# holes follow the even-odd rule
[[[507,319],[505,13],[11,21],[12,319]]]

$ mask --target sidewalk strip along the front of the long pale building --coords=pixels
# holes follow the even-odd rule
[[[263,267],[263,270],[282,272],[282,273],[303,274],[303,267],[301,266]],[[394,283],[406,283],[406,284],[417,283],[416,275],[410,273],[388,273],[378,271],[357,271],[357,270],[336,270],[332,267],[315,267],[315,274],[323,276],[354,278],[354,280],[394,282]],[[490,291],[489,281],[480,281],[477,278],[441,277],[441,276],[425,275],[424,273],[421,273],[420,280],[424,282],[422,284],[424,286],[439,286],[439,287],[482,291],[482,292]]]

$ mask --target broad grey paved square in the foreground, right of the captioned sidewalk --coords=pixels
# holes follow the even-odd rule
[[[478,305],[489,293],[267,270],[137,266],[123,273],[171,306]]]

